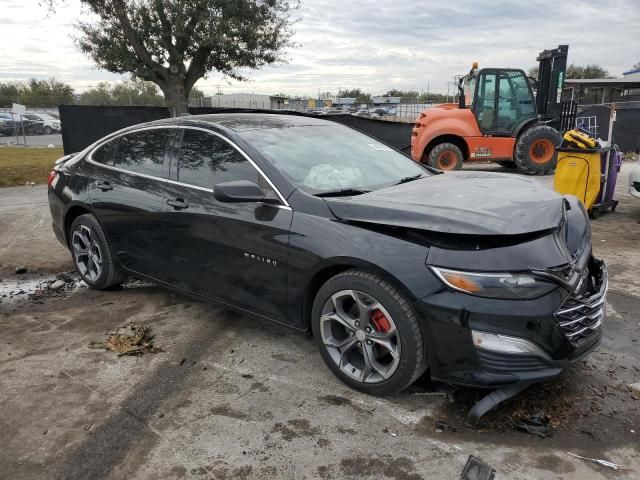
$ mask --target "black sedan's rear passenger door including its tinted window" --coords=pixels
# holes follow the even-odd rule
[[[112,251],[126,269],[154,278],[164,269],[160,221],[168,151],[176,131],[138,130],[90,155],[96,168],[89,197]]]

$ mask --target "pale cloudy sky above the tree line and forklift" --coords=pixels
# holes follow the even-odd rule
[[[123,79],[74,46],[81,14],[78,0],[55,13],[38,0],[0,0],[0,81],[55,77],[82,92]],[[614,76],[640,62],[640,0],[301,0],[295,16],[288,63],[244,72],[242,83],[211,72],[196,86],[207,94],[447,93],[474,61],[527,70],[558,44],[569,45],[569,63],[597,63]]]

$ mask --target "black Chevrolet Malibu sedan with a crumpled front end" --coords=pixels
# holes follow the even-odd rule
[[[543,380],[602,336],[585,209],[513,175],[441,174],[345,126],[218,114],[61,158],[53,229],[82,278],[135,276],[301,331],[345,383],[391,394]]]

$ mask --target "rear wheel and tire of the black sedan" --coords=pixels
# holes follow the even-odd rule
[[[71,224],[68,238],[73,264],[89,287],[104,290],[124,281],[104,231],[93,215],[77,217]]]

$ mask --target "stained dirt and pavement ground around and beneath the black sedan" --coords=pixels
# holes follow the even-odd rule
[[[592,222],[610,272],[602,345],[478,428],[464,422],[476,392],[423,381],[370,397],[284,327],[142,282],[88,290],[59,275],[72,265],[46,189],[0,189],[0,478],[457,479],[474,455],[498,479],[640,479],[640,393],[629,388],[640,382],[640,201],[625,192],[629,167],[617,212]],[[151,326],[163,351],[88,348],[128,321]],[[553,436],[512,427],[536,414]]]

